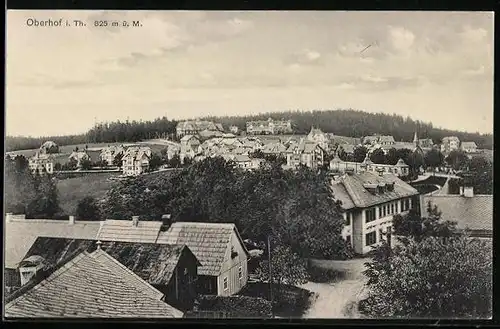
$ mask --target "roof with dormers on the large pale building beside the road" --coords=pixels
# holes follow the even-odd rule
[[[392,185],[392,191],[385,190],[383,193],[372,193],[366,186],[368,185]],[[382,176],[369,171],[351,173],[342,176],[332,183],[332,193],[336,200],[342,202],[342,208],[366,208],[372,205],[389,202],[413,195],[418,195],[418,191],[409,184],[399,179],[391,173],[384,173]]]

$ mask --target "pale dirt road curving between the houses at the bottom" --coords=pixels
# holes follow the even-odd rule
[[[362,298],[366,278],[362,272],[368,258],[348,261],[314,261],[321,267],[343,271],[346,276],[334,283],[308,282],[301,288],[318,294],[304,318],[360,318],[357,302]]]

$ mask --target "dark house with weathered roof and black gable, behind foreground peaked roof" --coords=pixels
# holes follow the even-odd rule
[[[185,245],[39,237],[24,261],[41,257],[45,264],[55,266],[75,252],[93,252],[98,247],[161,291],[169,304],[179,309],[193,306],[197,296],[198,266],[201,264]],[[21,277],[21,283],[22,280]],[[141,284],[138,288],[143,286]]]

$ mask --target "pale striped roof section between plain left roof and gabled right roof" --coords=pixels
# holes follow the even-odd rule
[[[162,222],[139,221],[134,226],[132,220],[107,219],[97,234],[101,241],[123,241],[154,243],[160,232]]]

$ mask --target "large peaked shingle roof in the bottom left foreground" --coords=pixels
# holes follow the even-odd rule
[[[38,259],[40,260],[40,259]],[[33,267],[25,264],[27,268]],[[40,269],[39,269],[40,270]],[[38,271],[9,296],[9,318],[180,318],[164,295],[101,249]]]

